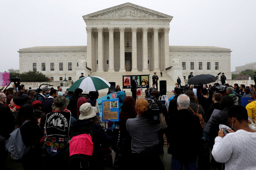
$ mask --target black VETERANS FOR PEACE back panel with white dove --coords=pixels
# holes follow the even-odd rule
[[[45,122],[46,136],[68,136],[70,118],[70,112],[48,113]]]

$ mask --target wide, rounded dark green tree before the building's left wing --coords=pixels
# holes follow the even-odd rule
[[[46,82],[47,77],[40,73],[39,71],[31,71],[23,72],[20,74],[21,82]]]

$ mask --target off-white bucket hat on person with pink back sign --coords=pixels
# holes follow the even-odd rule
[[[92,118],[96,116],[97,113],[97,107],[92,107],[91,103],[82,104],[79,110],[81,113],[79,116],[80,120]]]

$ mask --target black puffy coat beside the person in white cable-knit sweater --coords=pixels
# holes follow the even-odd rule
[[[228,125],[228,109],[223,109],[220,111],[220,113],[212,118],[212,123],[210,125],[209,129],[209,138],[210,138],[210,144],[213,146],[215,137],[218,136],[219,132],[219,125],[224,124]]]

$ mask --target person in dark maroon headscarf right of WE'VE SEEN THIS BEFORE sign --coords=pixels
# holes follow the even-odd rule
[[[131,169],[131,141],[132,138],[126,129],[127,119],[133,119],[137,115],[135,100],[131,96],[124,98],[122,111],[119,113],[119,121],[116,122],[113,130],[112,158],[114,167],[117,169]],[[120,132],[120,133],[119,133]],[[120,135],[120,138],[118,137]],[[119,140],[118,140],[119,139]],[[121,155],[121,156],[120,156]],[[116,159],[115,159],[116,158]]]

